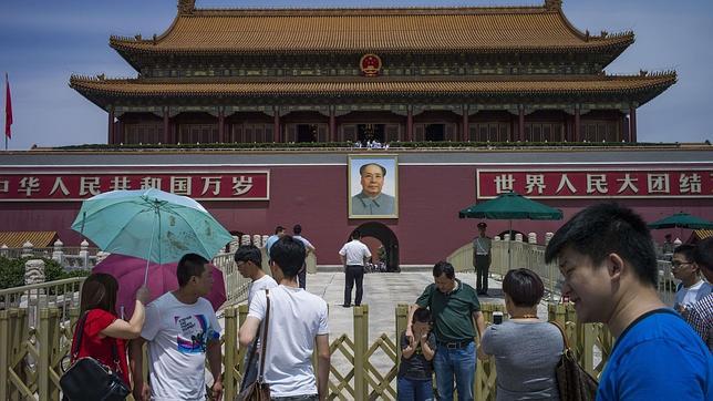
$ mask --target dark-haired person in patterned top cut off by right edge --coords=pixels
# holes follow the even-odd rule
[[[713,237],[703,239],[693,251],[693,260],[709,282],[713,282]],[[684,313],[685,320],[713,352],[713,294],[709,294],[693,304]]]

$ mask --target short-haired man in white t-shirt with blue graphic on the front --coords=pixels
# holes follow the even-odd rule
[[[134,398],[146,401],[205,400],[206,356],[213,373],[213,399],[223,397],[220,325],[210,302],[208,260],[185,255],[176,268],[178,289],[146,307],[141,337],[131,343]],[[142,346],[148,343],[151,387],[144,381]]]

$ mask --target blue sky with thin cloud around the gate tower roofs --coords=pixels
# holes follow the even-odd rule
[[[228,1],[197,0],[210,7],[421,7],[533,4],[537,1]],[[176,0],[2,0],[0,71],[10,75],[14,124],[11,150],[106,143],[106,113],[69,88],[71,74],[136,76],[113,49],[112,34],[149,38],[164,32]],[[713,140],[713,1],[565,0],[580,30],[633,30],[636,42],[607,68],[632,74],[640,69],[675,70],[679,82],[638,111],[641,142]],[[3,83],[4,86],[4,83]],[[4,90],[2,91],[4,94]],[[4,95],[2,96],[4,106]],[[2,109],[4,117],[4,107]],[[4,120],[3,124],[4,125]]]

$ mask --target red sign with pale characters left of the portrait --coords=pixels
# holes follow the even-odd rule
[[[166,167],[1,168],[0,202],[82,200],[114,189],[158,188],[196,200],[268,200],[270,172]]]

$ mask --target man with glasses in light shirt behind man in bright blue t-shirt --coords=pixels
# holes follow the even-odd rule
[[[673,309],[685,315],[685,310],[693,304],[711,294],[711,285],[701,278],[701,268],[693,259],[695,246],[680,245],[673,249],[671,271],[673,277],[681,280],[675,292]]]

